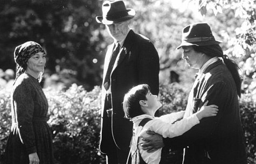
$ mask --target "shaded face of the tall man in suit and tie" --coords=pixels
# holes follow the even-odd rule
[[[108,33],[116,41],[121,41],[126,38],[126,34],[129,31],[129,21],[124,21],[119,24],[107,25]]]

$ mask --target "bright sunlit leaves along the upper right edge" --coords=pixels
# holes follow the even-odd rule
[[[197,4],[200,13],[207,16],[207,11],[213,11],[215,16],[228,18],[231,13],[231,19],[239,20],[240,25],[227,24],[230,22],[223,21],[227,28],[233,26],[234,36],[226,36],[229,47],[226,53],[236,57],[239,66],[244,75],[244,92],[256,93],[256,1],[233,1],[233,0],[193,0]],[[227,14],[229,13],[229,14]],[[232,31],[230,31],[232,32]]]

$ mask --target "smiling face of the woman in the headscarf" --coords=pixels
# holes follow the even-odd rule
[[[44,71],[46,63],[46,55],[42,52],[39,52],[29,58],[27,61],[27,72],[31,72],[33,74],[37,74]]]

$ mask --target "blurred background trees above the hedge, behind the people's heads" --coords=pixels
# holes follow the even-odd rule
[[[196,4],[195,8],[191,5]],[[102,80],[102,65],[107,45],[112,42],[105,26],[96,23],[103,0],[1,1],[0,50],[1,69],[15,70],[14,48],[34,40],[47,50],[47,72],[57,73],[61,80],[92,90]],[[182,28],[206,21],[217,39],[223,40],[226,54],[236,57],[244,74],[244,92],[256,93],[255,68],[255,0],[183,0],[180,8],[174,2],[125,1],[136,10],[130,26],[147,36],[160,55],[161,81],[170,81],[170,71],[180,75],[183,85],[191,83],[192,74],[181,62],[176,47]],[[185,5],[188,4],[185,8]],[[182,9],[181,9],[182,8]],[[198,9],[198,11],[197,11]],[[204,17],[198,17],[201,13]],[[184,76],[185,75],[185,76]],[[68,83],[68,84],[72,84]]]

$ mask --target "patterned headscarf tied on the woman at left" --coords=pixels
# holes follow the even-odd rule
[[[20,76],[20,74],[25,72],[27,66],[26,62],[29,60],[29,58],[39,52],[46,54],[45,50],[40,46],[40,44],[33,41],[25,42],[15,48],[14,60],[17,64],[16,79]]]

